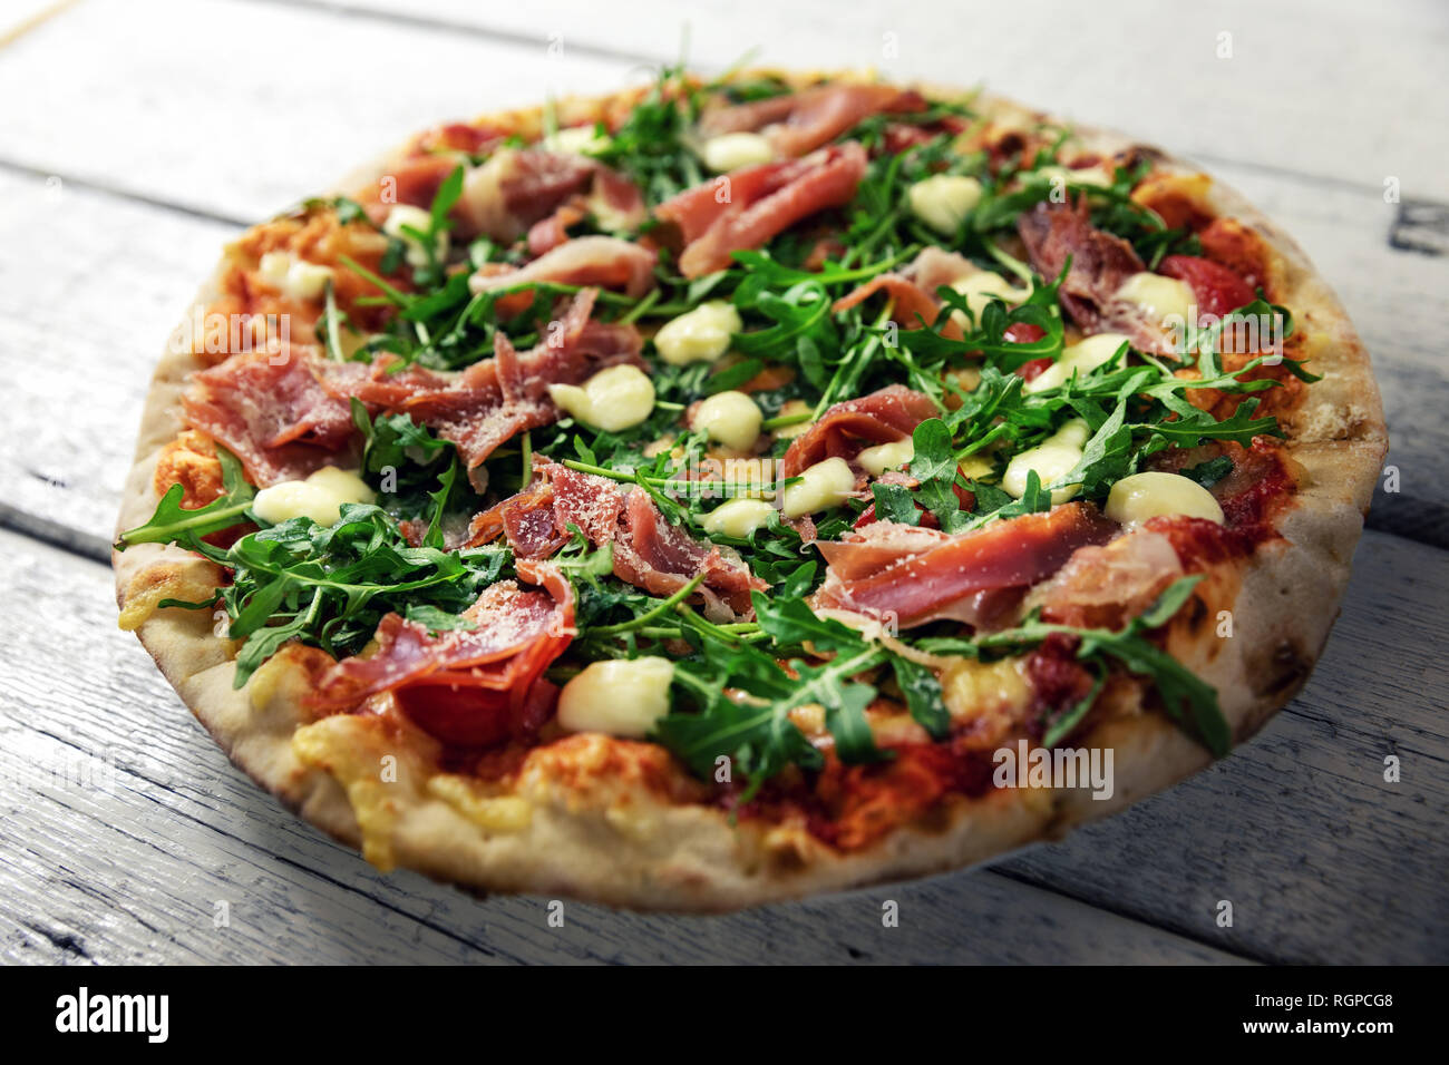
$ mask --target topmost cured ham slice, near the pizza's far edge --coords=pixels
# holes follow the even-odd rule
[[[924,107],[924,97],[895,85],[820,85],[711,112],[700,120],[700,132],[719,136],[762,130],[777,152],[796,156],[835,141],[872,114]]]

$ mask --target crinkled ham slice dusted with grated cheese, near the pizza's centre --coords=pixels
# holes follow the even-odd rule
[[[613,543],[614,575],[653,596],[669,596],[698,574],[706,614],[733,620],[749,614],[751,590],[767,585],[729,548],[694,539],[671,526],[642,488],[581,474],[548,459],[535,464],[532,485],[478,514],[469,545],[503,536],[514,554],[542,556],[558,551],[575,526],[594,546]]]

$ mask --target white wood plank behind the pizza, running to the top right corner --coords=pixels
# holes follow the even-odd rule
[[[335,6],[335,4],[329,4]],[[975,84],[1178,152],[1449,199],[1449,17],[1435,0],[345,0],[342,7],[720,70],[877,67]],[[1230,33],[1230,58],[1219,58]]]

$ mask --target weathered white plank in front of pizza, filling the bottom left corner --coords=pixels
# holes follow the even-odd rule
[[[562,929],[546,900],[383,877],[226,762],[114,627],[107,568],[9,532],[0,552],[6,961],[1236,961],[985,871],[707,919],[569,903]]]

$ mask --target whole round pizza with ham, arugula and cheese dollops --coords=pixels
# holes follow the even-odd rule
[[[303,817],[727,910],[1058,838],[1304,684],[1387,439],[1297,245],[980,93],[667,68],[246,230],[120,625]]]

